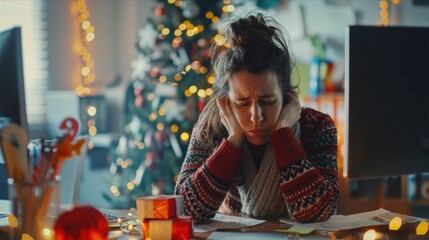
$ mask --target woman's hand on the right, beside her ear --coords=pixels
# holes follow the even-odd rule
[[[298,93],[292,90],[287,94],[290,101],[283,106],[275,130],[292,127],[301,117],[301,104],[299,103]]]

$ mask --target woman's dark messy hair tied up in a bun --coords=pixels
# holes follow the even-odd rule
[[[273,18],[261,13],[248,15],[229,23],[222,31],[226,46],[213,43],[212,66],[216,83],[207,105],[194,128],[196,140],[210,141],[214,147],[216,136],[226,137],[216,99],[228,95],[229,79],[233,73],[247,71],[251,74],[271,70],[277,75],[283,96],[295,88],[291,85],[292,60],[282,27]],[[204,136],[204,137],[203,137]]]

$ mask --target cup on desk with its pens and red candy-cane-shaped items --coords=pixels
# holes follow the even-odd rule
[[[10,177],[11,239],[54,239],[53,227],[61,214],[61,168],[73,156],[83,156],[82,149],[87,144],[84,138],[75,139],[79,129],[75,119],[66,118],[60,129],[64,130],[61,137],[30,143],[25,131],[16,124],[0,131],[1,150]]]

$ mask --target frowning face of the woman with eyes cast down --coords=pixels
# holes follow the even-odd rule
[[[231,109],[247,141],[261,145],[270,141],[283,106],[283,95],[273,71],[231,75],[229,82]]]

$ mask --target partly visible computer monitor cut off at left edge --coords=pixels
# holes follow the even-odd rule
[[[22,64],[21,29],[14,27],[0,32],[0,129],[8,123],[27,131],[24,71]],[[4,163],[0,151],[0,163]],[[5,198],[7,172],[0,164],[0,199]]]

